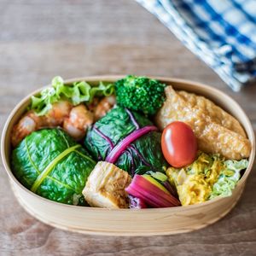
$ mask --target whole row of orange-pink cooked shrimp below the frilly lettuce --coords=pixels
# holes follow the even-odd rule
[[[92,125],[94,121],[94,115],[95,120],[102,118],[115,104],[115,97],[108,96],[100,102],[96,99],[94,104],[96,104],[94,113],[88,110],[83,104],[73,107],[72,103],[67,101],[54,103],[49,112],[44,116],[38,116],[31,110],[14,126],[11,142],[13,146],[16,146],[24,137],[31,134],[32,131],[59,125],[63,125],[64,130],[76,139],[84,137],[88,126]]]

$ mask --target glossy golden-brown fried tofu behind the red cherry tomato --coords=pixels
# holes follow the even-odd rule
[[[195,132],[198,148],[206,153],[222,154],[227,159],[241,160],[251,152],[240,123],[203,96],[166,87],[166,102],[155,117],[161,130],[173,121],[187,123]]]

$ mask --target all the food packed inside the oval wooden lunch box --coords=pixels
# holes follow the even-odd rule
[[[11,132],[11,166],[51,201],[107,208],[183,207],[232,195],[251,143],[204,96],[127,76],[32,96]]]

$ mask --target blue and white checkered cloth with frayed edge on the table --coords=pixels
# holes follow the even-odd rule
[[[240,90],[256,80],[256,0],[136,0]]]

